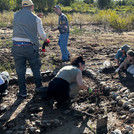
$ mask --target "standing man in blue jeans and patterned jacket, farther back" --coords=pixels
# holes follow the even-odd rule
[[[54,7],[55,13],[59,16],[58,28],[52,29],[52,31],[59,30],[59,46],[62,53],[62,62],[69,61],[70,54],[67,49],[68,37],[69,37],[69,23],[65,14],[62,13],[61,7],[56,5]]]

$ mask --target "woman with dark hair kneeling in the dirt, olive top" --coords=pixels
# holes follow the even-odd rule
[[[47,97],[53,98],[60,105],[76,97],[80,89],[88,90],[89,88],[82,82],[84,67],[83,57],[77,56],[72,60],[71,65],[61,68],[49,83]]]

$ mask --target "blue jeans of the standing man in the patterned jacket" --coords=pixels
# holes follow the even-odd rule
[[[65,34],[60,34],[59,37],[59,46],[62,53],[63,61],[68,60],[68,56],[69,56],[69,51],[67,50],[68,36],[69,33],[65,33]]]

